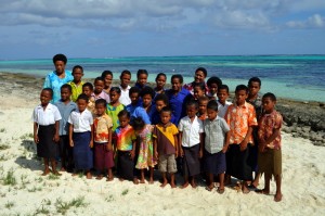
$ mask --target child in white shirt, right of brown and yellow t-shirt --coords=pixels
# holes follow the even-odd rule
[[[192,188],[196,188],[195,176],[200,173],[199,158],[203,156],[203,122],[198,119],[196,113],[198,103],[191,100],[186,104],[187,116],[183,117],[179,124],[179,150],[183,157],[184,183],[182,189],[188,186],[191,179]]]

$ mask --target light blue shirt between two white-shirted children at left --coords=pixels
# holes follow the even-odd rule
[[[63,101],[60,100],[55,103],[55,105],[58,109],[58,112],[62,116],[58,123],[60,124],[58,135],[60,136],[68,135],[69,126],[67,120],[72,112],[77,110],[77,104],[73,101],[65,104]]]

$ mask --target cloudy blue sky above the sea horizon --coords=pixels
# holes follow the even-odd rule
[[[325,54],[325,0],[0,0],[0,60]]]

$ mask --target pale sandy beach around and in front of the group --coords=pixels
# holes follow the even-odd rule
[[[325,148],[283,132],[283,201],[226,188],[224,194],[196,189],[138,185],[117,178],[42,177],[32,141],[32,109],[41,79],[0,79],[0,215],[325,215]],[[178,177],[178,185],[181,183]],[[263,187],[261,179],[259,188]]]

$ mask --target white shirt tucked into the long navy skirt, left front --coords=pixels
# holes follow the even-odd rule
[[[68,123],[74,125],[74,132],[91,131],[91,125],[93,124],[92,114],[89,110],[84,110],[82,113],[79,111],[73,111]]]

